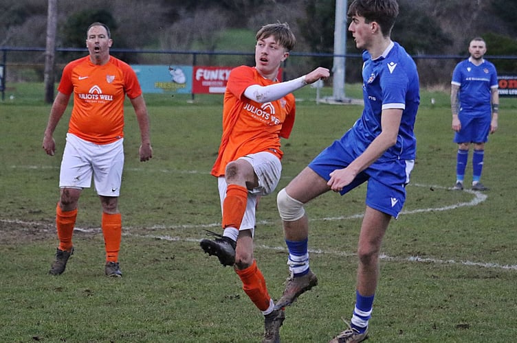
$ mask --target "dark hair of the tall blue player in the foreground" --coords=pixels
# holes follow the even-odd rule
[[[366,23],[375,21],[381,27],[382,35],[388,37],[399,15],[397,0],[353,0],[347,16],[363,16]]]

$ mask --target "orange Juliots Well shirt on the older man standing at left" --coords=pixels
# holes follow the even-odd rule
[[[124,137],[124,97],[142,94],[135,71],[113,56],[102,66],[93,64],[89,56],[69,62],[58,91],[74,93],[68,132],[96,144]]]

